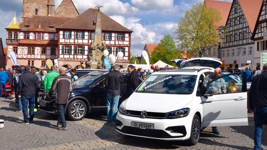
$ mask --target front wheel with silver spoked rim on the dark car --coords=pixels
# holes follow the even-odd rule
[[[81,100],[74,100],[69,103],[67,114],[72,121],[82,120],[87,113],[86,104]]]

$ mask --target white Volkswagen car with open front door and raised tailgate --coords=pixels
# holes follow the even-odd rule
[[[207,84],[211,89],[215,83],[237,76],[235,93],[228,82],[222,84],[226,88],[221,88],[222,94],[200,93],[203,79],[221,63],[214,58],[193,58],[183,61],[181,69],[152,73],[121,103],[116,131],[143,138],[187,140],[195,145],[202,127],[248,125],[245,72],[225,74]]]

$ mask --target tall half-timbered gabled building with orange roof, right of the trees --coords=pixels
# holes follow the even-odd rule
[[[237,68],[254,64],[254,41],[251,40],[263,0],[234,0],[227,19],[227,32],[222,44],[225,66]],[[240,60],[240,62],[239,62]]]

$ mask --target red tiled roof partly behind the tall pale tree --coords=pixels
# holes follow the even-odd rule
[[[231,9],[232,2],[223,2],[223,1],[214,1],[214,0],[205,0],[208,8],[216,8],[222,16],[222,20],[219,23],[219,26],[224,26],[227,22],[227,18]]]

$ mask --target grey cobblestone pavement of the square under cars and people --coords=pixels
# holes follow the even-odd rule
[[[81,121],[67,121],[67,131],[57,130],[56,115],[42,111],[35,112],[32,124],[23,125],[23,114],[15,112],[18,104],[11,99],[0,99],[0,118],[4,119],[5,125],[0,129],[1,150],[248,150],[254,146],[254,121],[250,113],[249,126],[218,127],[220,135],[214,135],[211,128],[206,128],[200,134],[199,143],[187,147],[183,142],[123,136],[116,133],[114,123],[106,122],[105,112],[89,114]],[[266,127],[263,127],[263,149],[267,149]]]

